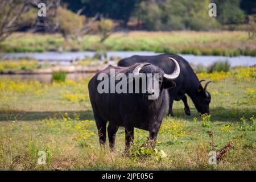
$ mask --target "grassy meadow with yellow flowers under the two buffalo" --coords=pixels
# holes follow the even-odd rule
[[[0,79],[0,169],[256,169],[256,77],[254,68],[227,73],[199,73],[213,82],[211,115],[200,117],[192,101],[191,116],[181,102],[174,118],[165,117],[157,152],[141,146],[148,133],[135,130],[130,156],[123,156],[124,130],[119,128],[117,150],[100,154],[96,125],[88,96],[88,81],[53,82]],[[217,151],[229,141],[234,146],[217,165],[208,164],[212,150],[207,131],[214,134]],[[161,151],[162,150],[162,151]],[[38,165],[38,152],[46,164]]]

